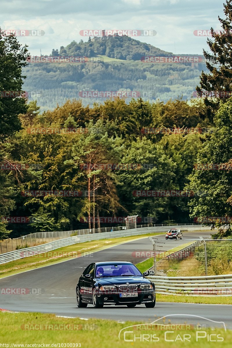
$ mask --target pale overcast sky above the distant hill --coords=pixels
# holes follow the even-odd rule
[[[0,0],[1,29],[43,30],[41,37],[21,37],[31,55],[49,55],[53,48],[80,39],[85,29],[155,30],[137,40],[176,54],[202,54],[207,37],[194,30],[221,29],[223,0]]]

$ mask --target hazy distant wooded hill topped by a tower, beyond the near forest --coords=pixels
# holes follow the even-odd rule
[[[100,56],[98,56],[100,55]],[[27,76],[23,88],[38,91],[40,110],[56,107],[69,99],[79,99],[79,92],[91,91],[138,91],[144,100],[167,102],[178,96],[190,100],[199,75],[206,71],[205,63],[143,63],[148,56],[172,56],[151,45],[125,37],[111,37],[96,41],[71,42],[66,48],[53,49],[51,56],[85,56],[99,58],[96,62],[82,63],[29,63],[23,68]],[[115,59],[115,61],[114,61]],[[146,92],[150,97],[146,97]],[[143,94],[143,92],[145,92]],[[82,98],[83,105],[103,103],[106,98]],[[127,98],[127,103],[130,102]]]

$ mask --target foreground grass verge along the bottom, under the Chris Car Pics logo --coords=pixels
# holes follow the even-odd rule
[[[144,311],[148,311],[149,309],[144,308]],[[154,310],[151,310],[151,318],[146,322],[151,323],[155,319],[158,319],[156,316],[152,316],[152,313],[154,313]],[[77,309],[78,314],[78,309]],[[187,322],[187,321],[186,321]],[[191,323],[191,319],[189,319],[189,322]],[[160,324],[170,324],[170,320],[168,317],[166,320],[161,321]],[[199,321],[200,323],[200,321]],[[45,328],[46,324],[52,324],[57,325],[56,328],[60,328],[60,330],[28,330],[32,327],[39,327],[39,326],[31,326],[34,324],[41,324],[43,325],[43,328]],[[163,348],[163,347],[170,347],[170,348],[182,348],[182,347],[191,347],[191,348],[229,348],[231,347],[232,342],[232,331],[227,330],[225,332],[224,329],[218,328],[218,329],[204,329],[203,331],[206,332],[206,337],[198,339],[198,342],[196,340],[197,331],[201,330],[174,330],[173,333],[167,334],[167,339],[173,340],[173,342],[165,341],[165,331],[170,331],[170,329],[167,330],[157,330],[158,326],[156,326],[156,330],[134,330],[133,327],[130,327],[127,329],[128,331],[133,331],[132,333],[127,333],[125,338],[126,339],[133,339],[134,335],[135,337],[141,337],[140,335],[146,334],[149,335],[149,338],[151,335],[155,335],[156,338],[155,341],[149,342],[149,340],[141,341],[140,339],[136,339],[135,342],[131,341],[124,341],[123,340],[123,332],[120,335],[119,340],[119,332],[121,329],[124,329],[127,326],[130,325],[136,325],[141,324],[141,322],[125,322],[125,323],[118,323],[114,322],[112,320],[102,320],[102,319],[89,319],[87,320],[81,320],[79,318],[60,318],[56,317],[52,314],[41,314],[41,313],[0,313],[0,325],[1,325],[1,343],[8,344],[9,348],[11,346],[11,343],[14,344],[24,344],[24,347],[26,345],[30,344],[47,344],[47,345],[55,345],[59,344],[60,346],[56,347],[67,347],[68,343],[72,344],[80,344],[80,347],[82,348],[91,348],[93,345],[100,345],[104,348],[112,348],[112,347],[136,347],[136,348],[144,348],[144,347],[156,347],[156,348]],[[28,326],[25,326],[28,325]],[[58,326],[59,325],[59,326]],[[66,329],[62,330],[62,328],[65,325]],[[70,326],[67,326],[70,325]],[[79,330],[67,330],[67,327],[71,328],[72,326],[75,328],[78,328]],[[75,326],[74,326],[75,325]],[[41,327],[41,326],[40,326]],[[48,327],[48,326],[47,326]],[[53,326],[54,327],[54,326]],[[25,330],[27,328],[27,330]],[[51,328],[51,326],[50,326]],[[87,330],[88,328],[92,328],[92,330]],[[94,330],[93,330],[94,329]],[[182,342],[184,334],[188,334],[189,341]],[[207,334],[213,334],[212,340],[219,339],[223,341],[221,342],[210,342],[208,341]],[[218,337],[215,336],[219,335]],[[203,332],[200,332],[198,335],[201,335],[202,337],[205,336]],[[143,336],[142,336],[143,337]],[[177,340],[176,340],[177,338]],[[181,338],[181,339],[180,339]],[[176,340],[176,342],[175,342]],[[63,346],[62,346],[63,343]],[[66,344],[66,346],[65,346]],[[75,345],[77,347],[79,345]],[[7,347],[7,346],[5,346]],[[39,346],[37,346],[39,347]],[[51,347],[51,346],[50,346]],[[74,347],[74,346],[73,346]]]

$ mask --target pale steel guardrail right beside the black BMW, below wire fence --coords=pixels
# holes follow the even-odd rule
[[[158,294],[190,296],[232,295],[232,274],[201,277],[149,276]]]

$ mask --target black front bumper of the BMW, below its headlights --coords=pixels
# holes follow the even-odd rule
[[[98,301],[101,304],[127,304],[127,303],[146,303],[154,302],[155,300],[155,291],[141,291],[138,293],[138,296],[133,297],[120,297],[119,292],[103,294],[100,291],[97,293]]]

